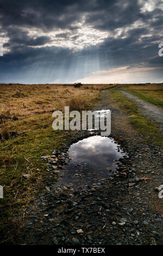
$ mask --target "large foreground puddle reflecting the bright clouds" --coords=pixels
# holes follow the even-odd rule
[[[127,154],[114,139],[104,136],[91,136],[71,145],[70,163],[61,171],[58,183],[78,187],[84,183],[97,183],[109,177],[109,170],[115,170],[116,161]]]

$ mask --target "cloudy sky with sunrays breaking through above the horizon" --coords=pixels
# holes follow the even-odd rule
[[[162,0],[0,0],[0,83],[163,82]]]

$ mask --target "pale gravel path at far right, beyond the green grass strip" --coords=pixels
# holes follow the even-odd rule
[[[120,91],[120,92],[125,96],[127,96],[129,99],[132,99],[136,103],[138,103],[138,106],[141,112],[153,122],[158,123],[160,126],[160,130],[163,131],[163,110],[162,109],[150,103],[145,102],[144,100],[134,96],[133,94],[130,94],[125,91]]]

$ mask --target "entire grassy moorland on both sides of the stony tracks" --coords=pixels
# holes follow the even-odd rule
[[[125,113],[136,132],[151,144],[162,146],[158,124],[143,116],[136,103],[120,92],[129,92],[161,109],[162,84],[83,85],[80,88],[49,84],[0,85],[0,184],[5,195],[0,200],[1,241],[12,240],[8,238],[8,230],[18,230],[21,226],[15,216],[23,215],[37,192],[46,186],[47,164],[41,156],[50,156],[76,133],[54,131],[53,111],[64,110],[65,105],[70,106],[70,110],[90,110],[99,101],[103,104],[101,90],[104,89],[110,89],[106,94],[112,104]],[[30,178],[24,178],[26,174]],[[52,180],[55,179],[54,175]]]

